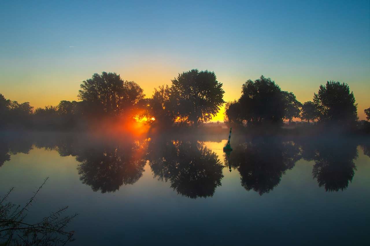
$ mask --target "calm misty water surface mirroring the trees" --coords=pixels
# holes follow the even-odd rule
[[[68,205],[70,245],[368,245],[370,145],[350,137],[3,134],[0,195]],[[231,170],[231,171],[230,171]],[[67,215],[66,214],[66,215]]]

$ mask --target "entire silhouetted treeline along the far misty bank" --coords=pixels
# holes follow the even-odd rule
[[[84,129],[105,119],[134,120],[146,117],[148,124],[169,127],[176,123],[196,126],[215,116],[223,100],[222,83],[214,72],[192,69],[171,80],[171,86],[154,89],[145,98],[142,88],[116,73],[102,72],[83,81],[77,101],[62,100],[57,106],[34,108],[0,94],[0,127],[3,129]],[[370,107],[365,110],[370,119]],[[346,83],[328,81],[314,93],[313,101],[301,103],[293,92],[282,91],[270,78],[261,76],[242,85],[242,96],[226,102],[225,122],[230,125],[276,125],[293,118],[369,129],[358,121],[357,104]]]

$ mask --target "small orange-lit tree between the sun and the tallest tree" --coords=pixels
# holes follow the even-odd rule
[[[152,97],[149,99],[149,117],[155,118],[155,123],[160,126],[168,126],[174,123],[176,116],[174,105],[170,100],[168,85],[154,88]]]

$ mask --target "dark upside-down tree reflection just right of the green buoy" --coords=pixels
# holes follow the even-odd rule
[[[225,163],[239,171],[241,184],[247,191],[262,195],[275,188],[299,158],[299,147],[293,142],[262,138],[233,146]]]

